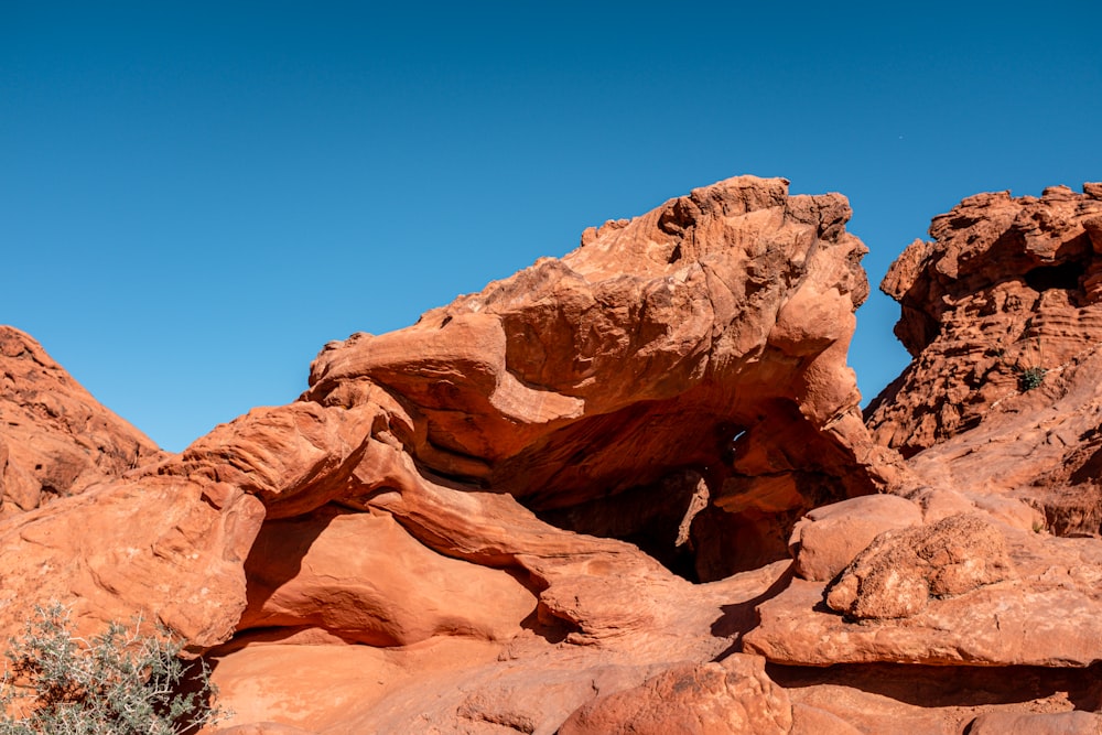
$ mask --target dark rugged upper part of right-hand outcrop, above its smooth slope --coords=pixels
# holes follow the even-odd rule
[[[915,360],[868,408],[877,441],[912,455],[1052,380],[1102,336],[1102,185],[979,194],[892,264],[896,335]]]

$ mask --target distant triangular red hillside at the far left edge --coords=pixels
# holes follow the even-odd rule
[[[29,335],[0,325],[0,516],[164,456]]]

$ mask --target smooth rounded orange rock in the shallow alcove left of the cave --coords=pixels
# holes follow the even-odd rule
[[[316,626],[344,640],[508,640],[536,596],[508,572],[442,556],[392,516],[328,506],[264,525],[245,564],[249,628]]]

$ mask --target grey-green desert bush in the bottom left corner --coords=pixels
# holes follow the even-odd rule
[[[168,630],[143,636],[140,624],[112,623],[89,642],[64,607],[39,607],[10,641],[0,735],[174,735],[217,721],[206,664],[186,667]]]

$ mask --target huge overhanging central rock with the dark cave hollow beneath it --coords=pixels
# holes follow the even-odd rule
[[[780,179],[695,190],[412,327],[331,344],[305,398],[383,391],[419,467],[687,575],[773,561],[803,510],[884,479],[845,364],[867,295],[850,214]]]

